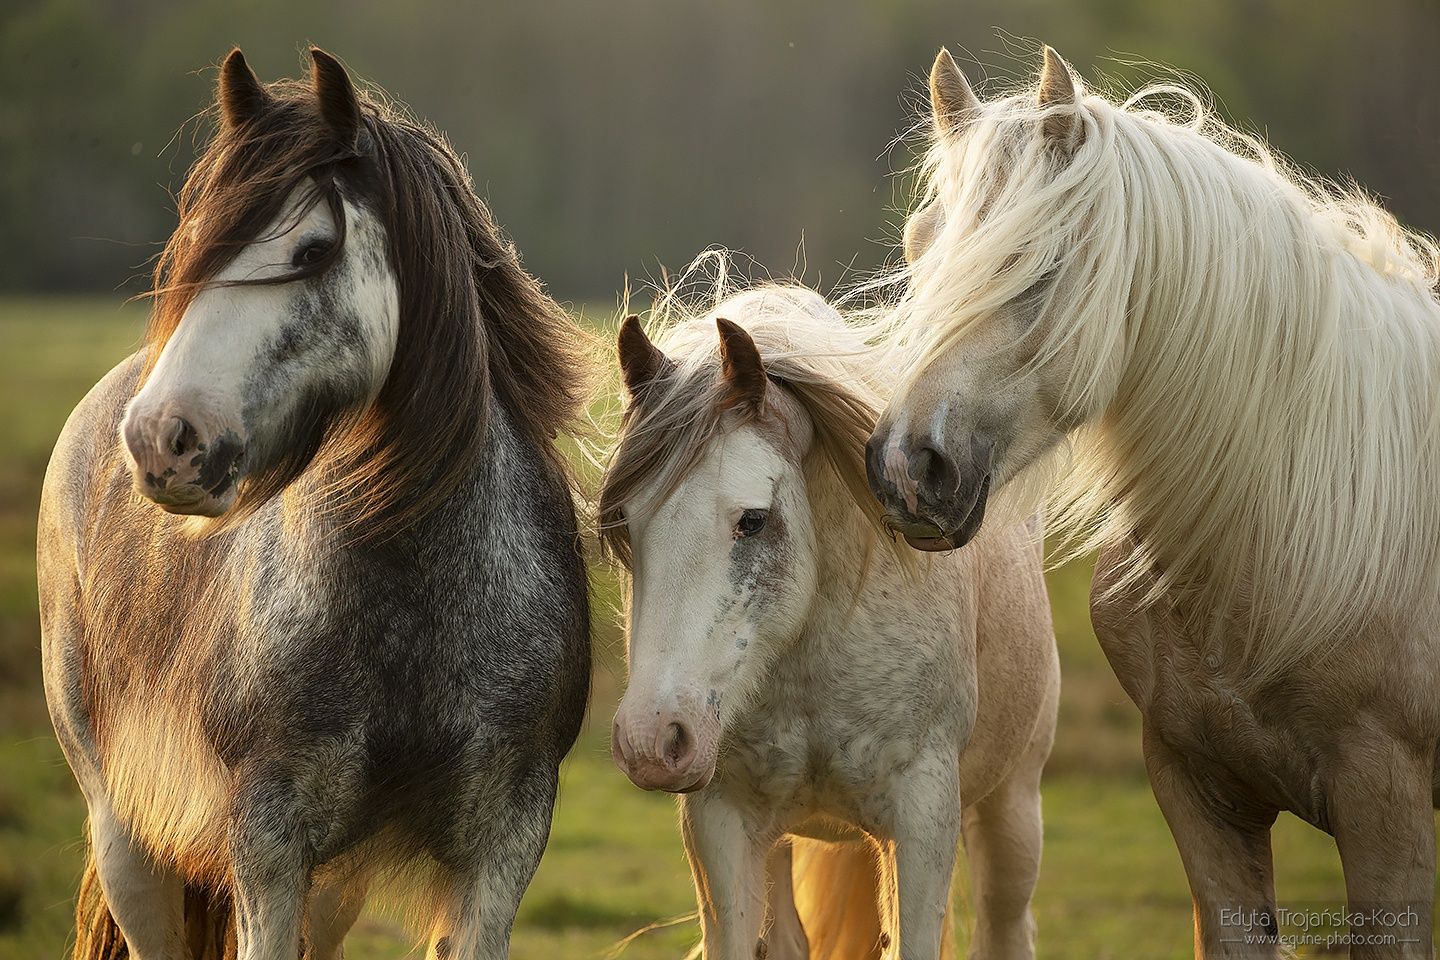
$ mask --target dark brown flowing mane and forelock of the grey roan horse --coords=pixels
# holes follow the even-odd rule
[[[397,533],[472,472],[492,397],[560,465],[552,440],[588,394],[583,334],[524,271],[454,148],[377,92],[357,95],[353,145],[337,141],[310,83],[276,81],[265,92],[253,118],[217,124],[186,177],[179,226],[156,266],[143,379],[194,296],[307,177],[315,187],[297,216],[330,204],[343,240],[344,197],[384,225],[399,337],[376,400],[348,413],[311,404],[294,449],[246,476],[232,514],[253,512],[314,463],[324,471],[327,511],[366,538]],[[341,248],[255,282],[321,273]]]

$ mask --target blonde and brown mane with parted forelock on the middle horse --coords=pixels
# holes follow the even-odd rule
[[[714,256],[723,253],[703,261]],[[674,367],[625,410],[600,482],[599,534],[606,551],[628,566],[621,507],[651,485],[660,497],[674,492],[710,443],[734,426],[733,412],[723,404],[717,317],[750,334],[770,381],[805,409],[816,452],[878,534],[881,512],[865,481],[864,450],[886,394],[880,390],[876,351],[863,332],[805,286],[763,285],[730,292],[723,263],[721,279],[707,299],[708,307],[696,305],[671,289],[651,311],[651,340]]]

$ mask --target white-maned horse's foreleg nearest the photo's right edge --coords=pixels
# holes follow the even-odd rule
[[[1339,753],[1328,813],[1355,917],[1351,957],[1433,957],[1431,759],[1364,733],[1345,740]]]

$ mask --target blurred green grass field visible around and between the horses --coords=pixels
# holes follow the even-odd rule
[[[0,301],[0,957],[59,957],[82,858],[84,805],[49,731],[35,607],[35,511],[50,445],[85,390],[138,341],[143,308],[114,299]],[[603,574],[598,574],[603,579]],[[1139,759],[1139,718],[1086,613],[1089,571],[1051,574],[1064,672],[1045,779],[1045,861],[1035,910],[1043,957],[1188,957],[1189,895]],[[554,833],[520,913],[513,956],[599,959],[634,930],[694,908],[672,800],[634,789],[611,763],[624,678],[613,590],[598,592],[599,669],[590,718],[566,761]],[[1284,818],[1276,830],[1287,902],[1342,898],[1328,838]],[[959,938],[969,911],[958,884]],[[636,938],[625,957],[678,957],[693,921]],[[413,937],[383,913],[351,934],[351,960],[399,957]]]

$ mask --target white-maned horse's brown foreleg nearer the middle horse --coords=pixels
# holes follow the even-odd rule
[[[1220,805],[1185,764],[1145,737],[1145,764],[1195,904],[1195,956],[1279,957],[1270,828],[1276,812]]]

